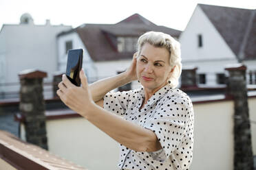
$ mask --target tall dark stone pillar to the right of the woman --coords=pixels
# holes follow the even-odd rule
[[[227,93],[231,95],[235,102],[234,114],[234,136],[235,136],[235,170],[253,170],[253,147],[251,143],[251,131],[248,96],[246,87],[246,66],[236,64],[228,66],[229,73]]]

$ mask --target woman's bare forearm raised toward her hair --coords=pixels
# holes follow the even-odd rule
[[[92,99],[94,102],[103,99],[104,95],[110,90],[118,88],[122,85],[131,82],[131,79],[127,76],[125,72],[115,75],[113,77],[107,77],[103,80],[99,80],[89,85],[89,90],[92,94]]]

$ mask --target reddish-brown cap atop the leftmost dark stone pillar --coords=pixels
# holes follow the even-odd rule
[[[36,69],[27,69],[19,72],[19,79],[32,79],[32,78],[43,78],[47,77],[47,73]]]

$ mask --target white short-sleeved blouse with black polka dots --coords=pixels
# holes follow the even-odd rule
[[[153,131],[162,149],[134,151],[120,144],[120,169],[189,169],[193,156],[193,106],[186,93],[169,84],[158,90],[140,110],[143,88],[109,92],[104,108]]]

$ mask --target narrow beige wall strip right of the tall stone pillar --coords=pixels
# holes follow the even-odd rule
[[[250,120],[254,122],[250,123],[250,130],[252,134],[253,155],[256,156],[256,97],[248,99],[248,107],[250,113]]]

